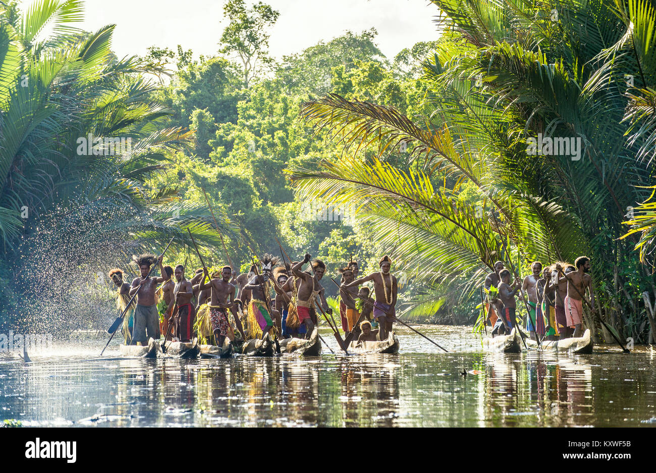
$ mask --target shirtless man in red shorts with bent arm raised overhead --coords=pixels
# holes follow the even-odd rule
[[[310,308],[314,308],[316,299],[320,299],[320,304],[323,307],[323,311],[326,314],[332,315],[333,309],[329,308],[328,302],[326,302],[325,295],[323,294],[323,287],[321,286],[321,278],[325,274],[326,266],[321,260],[312,261],[312,274],[303,271],[303,265],[310,261],[310,255],[305,254],[305,258],[302,261],[294,264],[291,267],[291,272],[298,278],[298,302],[297,302],[297,313],[298,319],[302,325],[305,325],[306,328],[306,337],[312,335],[314,330],[314,321],[312,321],[312,316],[310,316]]]

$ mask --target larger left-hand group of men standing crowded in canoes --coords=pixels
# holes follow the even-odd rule
[[[318,324],[317,309],[326,318],[333,315],[321,285],[325,264],[319,259],[310,262],[310,258],[306,254],[303,260],[280,265],[278,258],[265,254],[259,270],[255,264],[239,275],[228,265],[213,274],[208,268],[199,268],[187,279],[182,264],[171,268],[163,264],[162,257],[134,257],[140,277],[132,283],[124,281],[119,268],[108,274],[117,289],[119,310],[136,294],[123,323],[125,342],[146,344],[148,338],[161,336],[188,342],[197,337],[201,322],[207,322],[213,344],[223,346],[226,338],[230,342],[236,339],[231,317],[242,340],[264,339],[268,333],[274,338],[309,338]],[[159,266],[158,277],[149,276],[154,264]],[[358,341],[387,339],[396,319],[398,293],[391,265],[392,260],[385,256],[379,262],[380,272],[359,279],[358,262],[340,268],[344,335],[358,335]],[[369,287],[360,287],[368,281],[373,281],[375,298],[369,297]],[[378,333],[372,330],[372,318],[378,323]]]

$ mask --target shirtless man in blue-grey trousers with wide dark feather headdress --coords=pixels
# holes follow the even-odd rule
[[[159,339],[159,314],[155,305],[155,289],[157,289],[157,284],[163,283],[167,279],[161,260],[161,256],[157,258],[150,253],[141,255],[136,259],[141,278],[133,279],[129,292],[130,297],[133,297],[138,291],[136,308],[134,309],[133,344],[145,344],[149,337],[154,340]],[[155,262],[159,264],[160,278],[148,276],[150,268]]]

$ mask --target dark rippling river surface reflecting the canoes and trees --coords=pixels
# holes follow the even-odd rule
[[[405,327],[398,355],[117,360],[106,340],[0,354],[0,421],[28,426],[656,426],[656,358],[489,354],[471,327]],[[95,360],[94,360],[95,358]],[[466,377],[460,373],[471,371]]]

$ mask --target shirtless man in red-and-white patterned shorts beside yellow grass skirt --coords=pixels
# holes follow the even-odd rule
[[[203,268],[203,270],[209,278],[207,268]],[[210,323],[212,324],[216,345],[220,347],[223,346],[226,337],[230,339],[231,343],[235,339],[235,334],[232,327],[230,327],[230,320],[228,320],[228,310],[234,306],[237,288],[230,283],[230,279],[232,279],[232,268],[224,266],[221,268],[221,279],[212,278],[205,283],[203,278],[203,282],[201,282],[201,289],[210,289]]]

